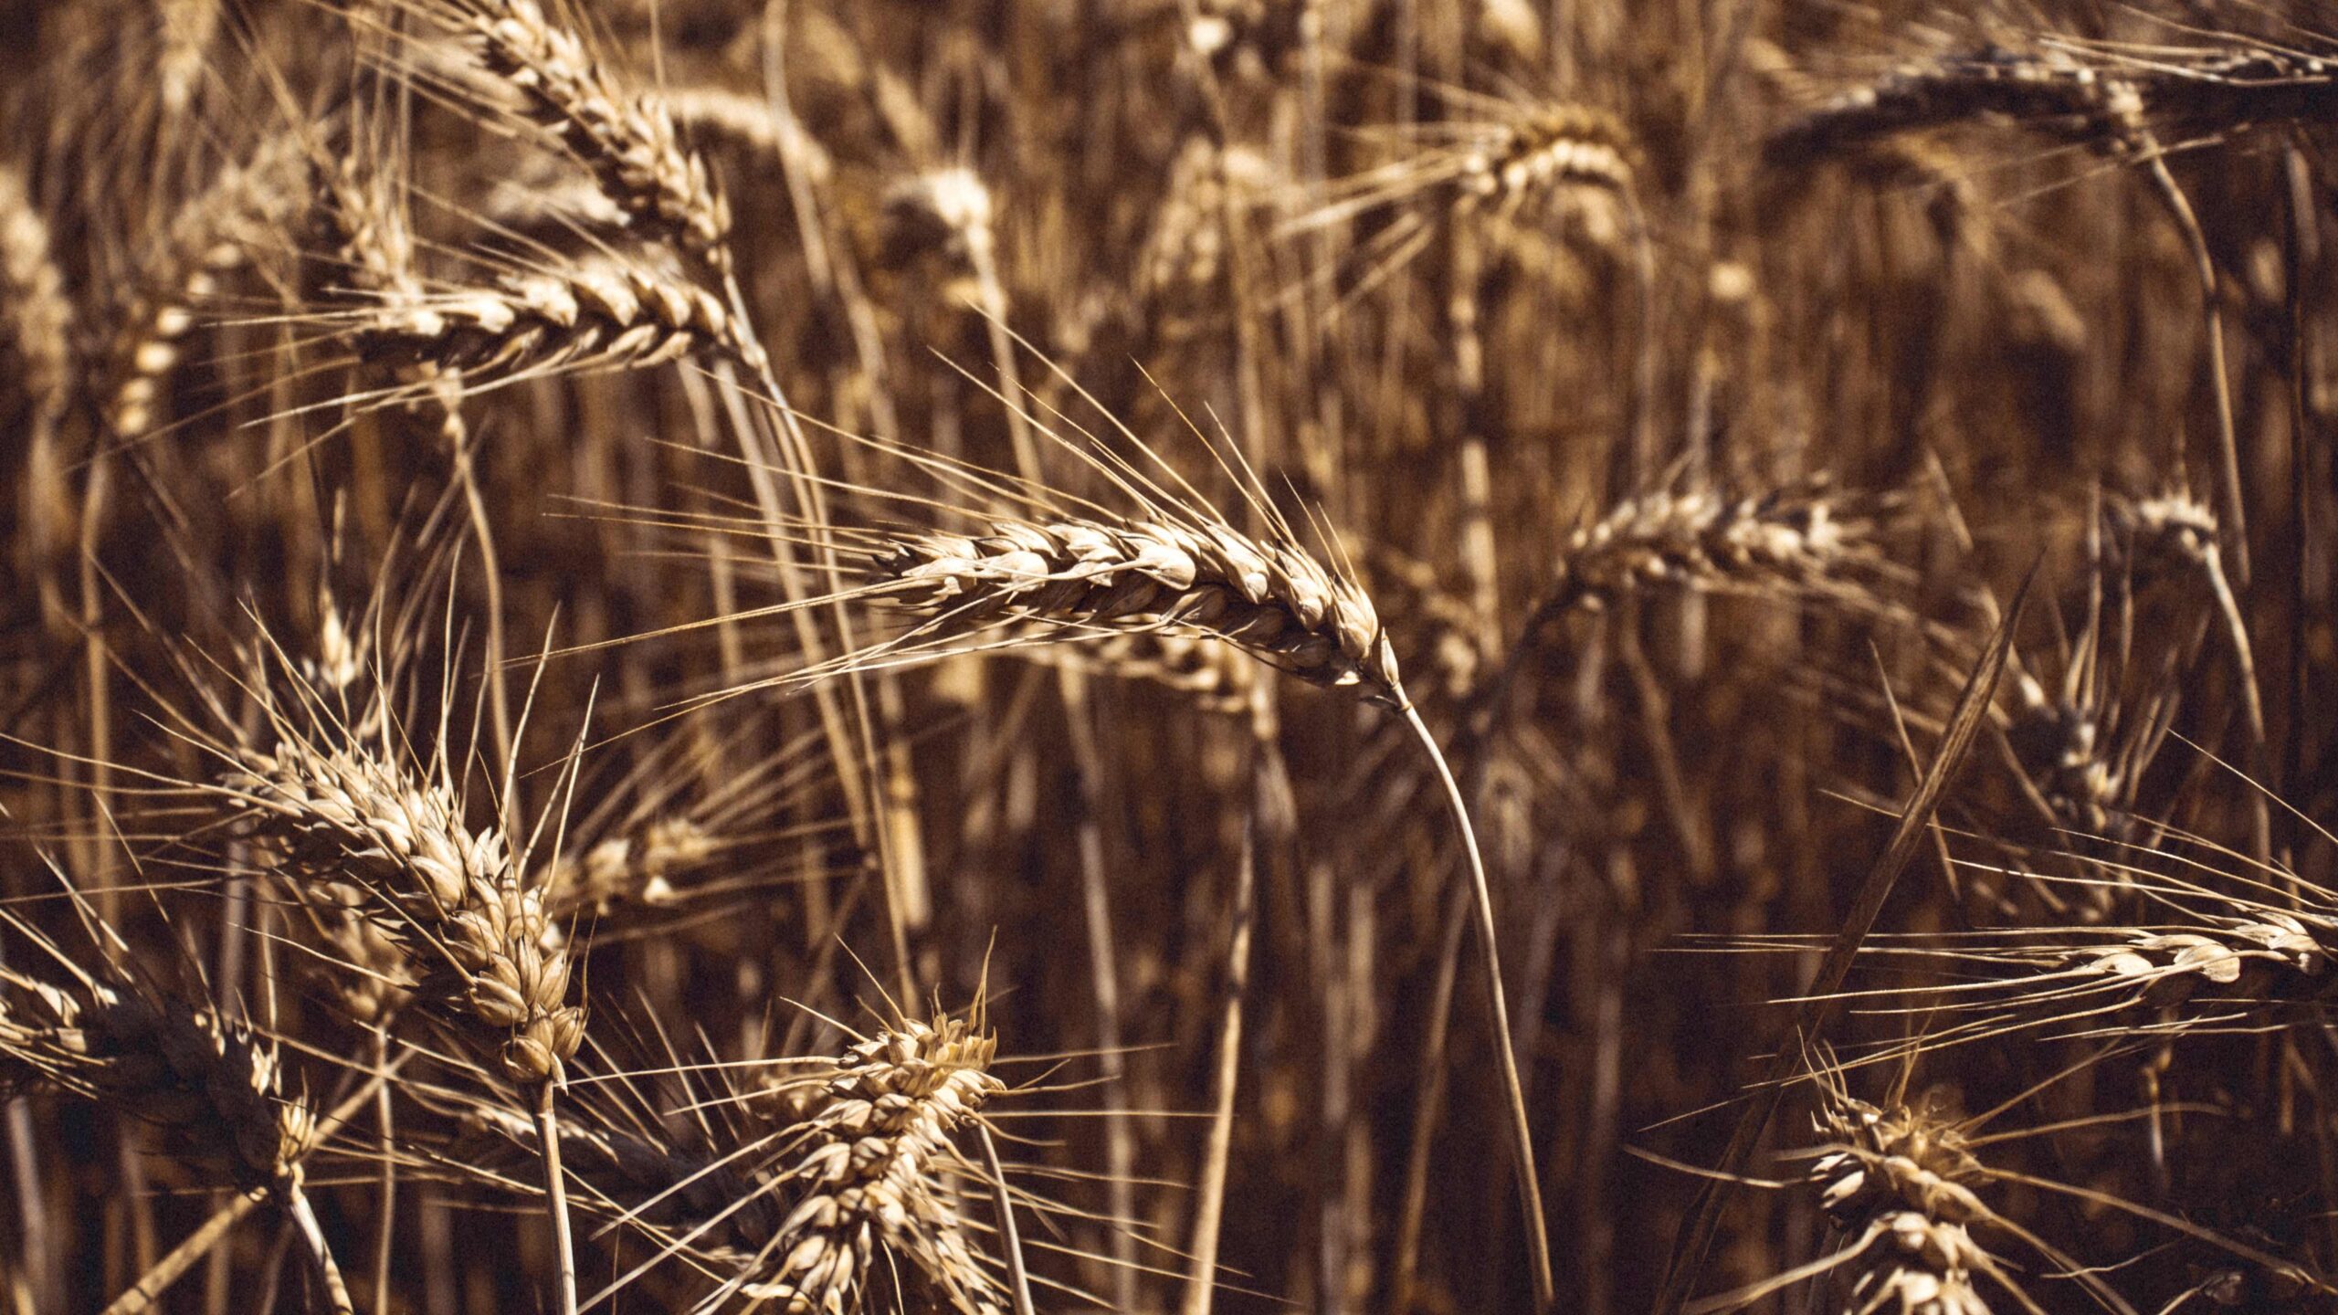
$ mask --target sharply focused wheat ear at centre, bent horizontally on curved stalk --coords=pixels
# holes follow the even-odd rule
[[[987,536],[895,536],[874,573],[886,597],[952,625],[1047,620],[1199,632],[1302,681],[1407,707],[1372,601],[1305,552],[1230,526],[1157,519],[994,522]]]

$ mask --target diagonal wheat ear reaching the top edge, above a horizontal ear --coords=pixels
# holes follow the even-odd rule
[[[666,103],[629,87],[566,21],[563,7],[547,9],[535,0],[397,2],[454,30],[482,68],[514,87],[526,119],[584,164],[636,225],[715,276],[729,274],[729,204],[706,159],[683,145]]]

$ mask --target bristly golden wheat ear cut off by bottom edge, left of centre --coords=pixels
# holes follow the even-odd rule
[[[790,1205],[734,1289],[781,1310],[849,1313],[874,1308],[877,1280],[912,1308],[998,1310],[998,1285],[942,1177],[982,1177],[952,1140],[1005,1093],[989,1072],[996,1053],[998,1041],[970,1020],[898,1020],[846,1048],[828,1074],[786,1079],[802,1111],[769,1177]]]

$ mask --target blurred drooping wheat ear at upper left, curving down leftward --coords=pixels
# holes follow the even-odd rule
[[[222,164],[161,243],[138,257],[105,370],[105,424],[117,438],[154,428],[185,337],[220,295],[220,281],[262,253],[290,250],[285,234],[309,204],[309,168],[302,136],[264,138],[248,157]]]

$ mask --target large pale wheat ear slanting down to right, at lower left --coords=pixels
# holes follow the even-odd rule
[[[243,751],[217,793],[292,882],[360,887],[367,917],[416,964],[416,994],[500,1034],[512,1081],[561,1076],[584,1039],[568,955],[545,948],[556,938],[542,896],[519,882],[503,833],[465,826],[451,789],[292,737]]]

